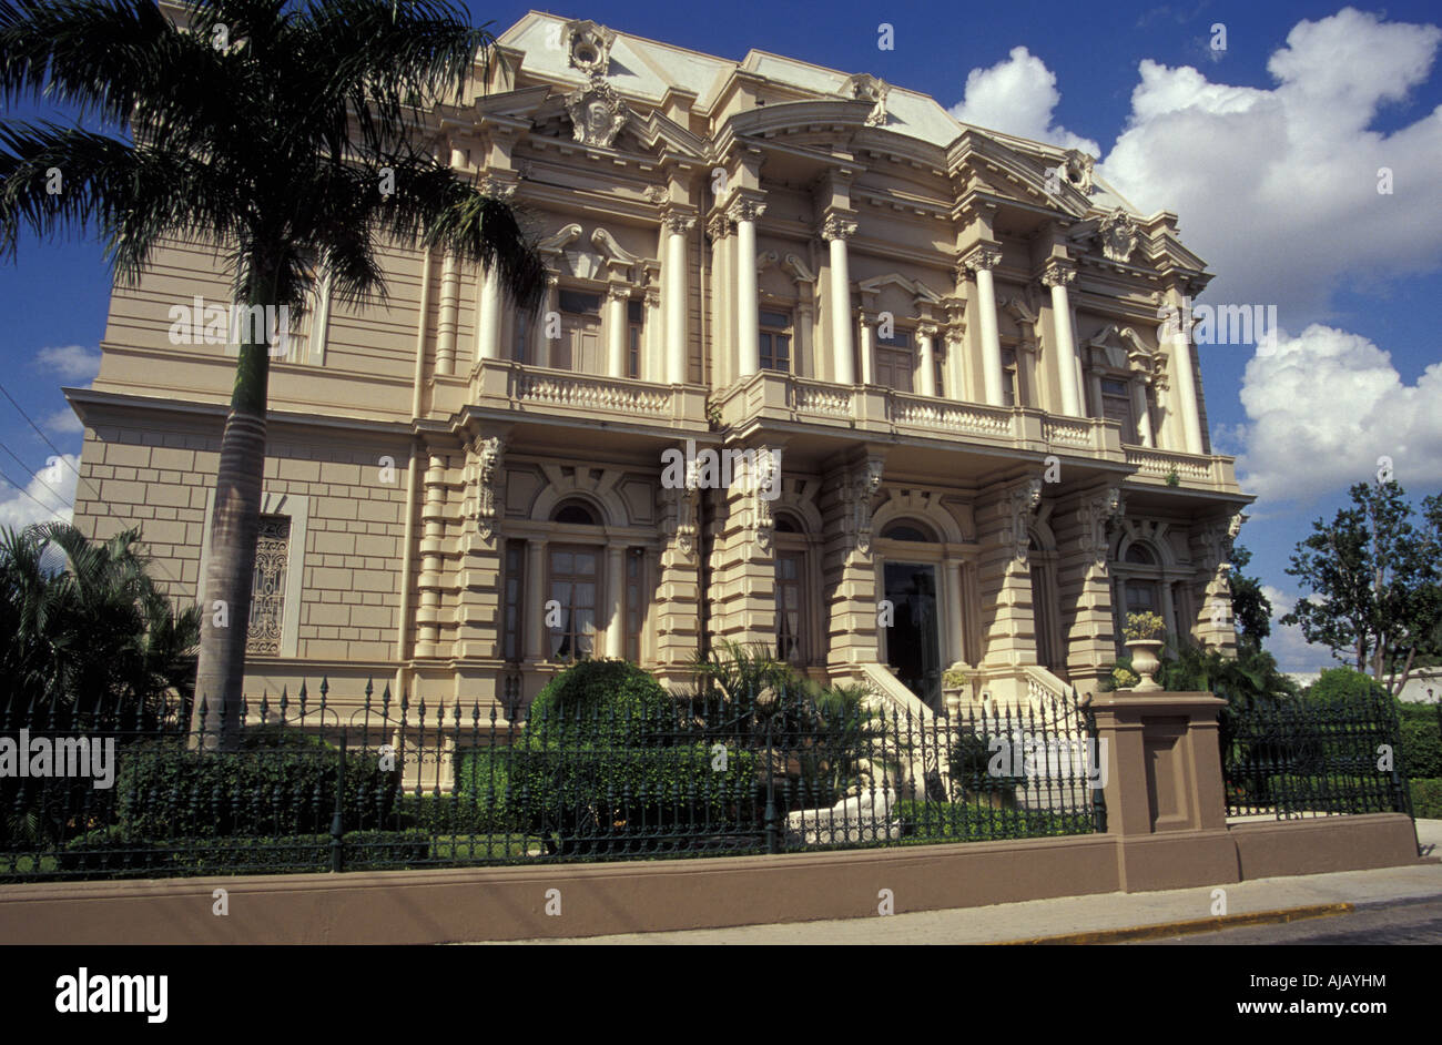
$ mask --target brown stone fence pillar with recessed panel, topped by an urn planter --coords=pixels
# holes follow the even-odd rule
[[[1217,712],[1211,693],[1099,693],[1106,758],[1106,830],[1118,840],[1122,888],[1168,889],[1240,881],[1227,835]]]

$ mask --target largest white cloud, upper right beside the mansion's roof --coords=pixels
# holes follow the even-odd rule
[[[1217,280],[1213,301],[1276,304],[1296,330],[1343,285],[1442,262],[1442,107],[1367,130],[1430,74],[1442,30],[1347,7],[1299,22],[1268,62],[1272,89],[1139,65],[1125,133],[1099,166],[1144,212],[1175,210]],[[1377,172],[1393,173],[1392,195]]]

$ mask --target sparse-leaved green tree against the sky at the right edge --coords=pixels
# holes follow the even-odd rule
[[[1286,572],[1314,597],[1299,600],[1282,623],[1298,624],[1306,641],[1396,695],[1419,656],[1442,650],[1442,497],[1423,502],[1417,528],[1400,484],[1357,483],[1350,493],[1351,507],[1331,523],[1315,520],[1298,542]]]

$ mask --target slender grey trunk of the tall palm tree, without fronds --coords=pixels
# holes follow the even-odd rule
[[[249,631],[260,532],[261,483],[265,473],[265,401],[270,379],[275,281],[257,272],[247,287],[239,359],[231,412],[221,437],[221,466],[215,477],[211,517],[211,559],[200,607],[200,657],[196,667],[192,742],[202,748],[231,748],[239,738],[245,685],[245,641]],[[267,320],[249,321],[260,306]],[[258,327],[258,329],[257,329]],[[203,722],[202,722],[203,708]]]

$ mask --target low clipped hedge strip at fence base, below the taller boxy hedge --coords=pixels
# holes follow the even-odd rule
[[[348,871],[414,866],[430,858],[424,832],[352,832],[345,837]],[[104,878],[130,875],[284,873],[330,869],[329,835],[187,837],[164,842],[127,836],[117,827],[71,839],[59,869]]]

